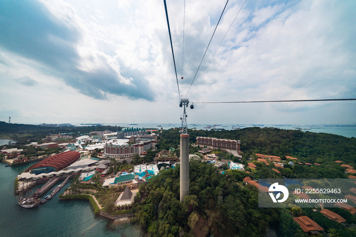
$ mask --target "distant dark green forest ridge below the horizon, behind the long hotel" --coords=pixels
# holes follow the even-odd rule
[[[334,167],[336,160],[356,167],[356,138],[354,137],[257,127],[223,131],[188,130],[188,133],[190,143],[195,143],[198,136],[240,140],[245,160],[258,153],[279,156],[283,160],[286,159],[285,156],[291,156],[298,158],[302,163],[322,164],[323,166],[318,168],[321,172],[318,177],[329,177],[328,175],[333,175],[334,172],[343,177],[344,169],[330,169]],[[170,146],[176,148],[179,142],[178,129],[163,130],[158,147],[161,149],[169,149]],[[297,167],[297,169],[302,168]],[[307,174],[315,172],[316,168],[305,167],[303,170]]]

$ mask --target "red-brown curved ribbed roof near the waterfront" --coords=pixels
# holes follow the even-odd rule
[[[25,172],[31,171],[36,168],[45,168],[45,167],[53,167],[55,171],[60,171],[69,165],[73,164],[77,160],[80,159],[80,153],[69,151],[60,153],[54,156],[50,156],[38,163],[34,164],[33,166],[26,169]]]

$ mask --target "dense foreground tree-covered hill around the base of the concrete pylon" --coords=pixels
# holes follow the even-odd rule
[[[257,188],[242,187],[235,172],[221,174],[213,165],[191,161],[190,195],[183,203],[180,166],[160,172],[140,186],[144,199],[133,220],[151,236],[308,236],[287,209],[258,208]]]

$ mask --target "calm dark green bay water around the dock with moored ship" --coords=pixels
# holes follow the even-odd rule
[[[13,194],[15,177],[33,164],[12,168],[0,163],[1,236],[142,236],[136,225],[114,225],[103,217],[95,216],[88,201],[60,201],[58,196],[70,183],[37,208],[21,208]]]

